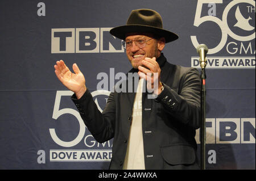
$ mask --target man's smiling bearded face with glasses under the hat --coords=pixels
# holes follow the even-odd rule
[[[126,54],[131,62],[133,68],[138,69],[139,65],[142,65],[142,60],[144,58],[158,58],[160,56],[161,51],[164,48],[164,39],[156,40],[151,33],[127,33],[127,40],[137,40],[144,39],[146,40],[146,46],[144,48],[139,48],[135,43],[132,43],[132,46],[129,49],[126,49]],[[150,40],[152,39],[152,40]]]

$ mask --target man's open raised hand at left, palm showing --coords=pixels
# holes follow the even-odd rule
[[[57,61],[54,68],[55,74],[60,82],[62,82],[69,90],[75,92],[77,99],[80,99],[86,91],[86,86],[84,75],[81,73],[78,66],[73,64],[75,74],[69,70],[63,60]]]

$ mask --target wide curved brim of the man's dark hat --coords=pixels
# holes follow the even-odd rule
[[[143,32],[143,33],[153,33],[154,35],[158,35],[159,37],[164,37],[166,39],[166,43],[177,40],[179,38],[178,35],[171,31],[164,30],[162,28],[156,28],[151,26],[142,26],[142,25],[125,25],[112,28],[110,30],[110,34],[118,37],[119,39],[125,40],[126,33],[131,32]]]

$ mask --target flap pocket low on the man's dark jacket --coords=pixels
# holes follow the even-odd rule
[[[162,157],[170,165],[191,165],[196,161],[195,150],[189,145],[169,145],[160,148]]]

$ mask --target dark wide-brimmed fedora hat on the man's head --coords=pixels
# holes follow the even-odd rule
[[[163,21],[160,14],[150,9],[138,9],[131,11],[125,26],[112,28],[110,34],[125,40],[126,33],[144,32],[153,33],[159,37],[164,37],[166,43],[177,40],[179,36],[175,33],[163,29]]]

